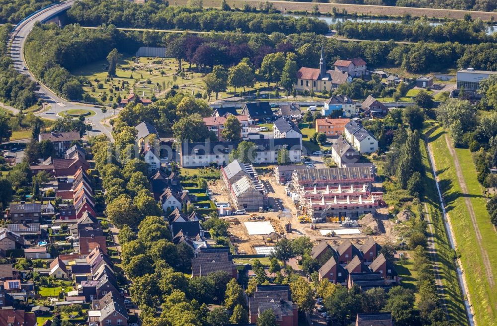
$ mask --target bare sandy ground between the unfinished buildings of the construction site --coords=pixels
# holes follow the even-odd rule
[[[360,235],[341,235],[336,237],[324,237],[319,232],[321,230],[336,230],[340,229],[338,223],[319,223],[317,229],[311,230],[309,223],[299,223],[297,218],[297,208],[290,197],[286,195],[284,185],[280,185],[272,175],[261,176],[261,181],[264,183],[267,191],[269,204],[273,212],[249,212],[245,215],[236,215],[225,217],[226,221],[230,222],[228,232],[231,235],[232,243],[238,247],[242,253],[255,254],[254,246],[271,246],[273,240],[268,240],[267,236],[257,235],[249,236],[244,222],[247,222],[250,215],[256,214],[264,217],[265,221],[270,221],[275,232],[280,236],[285,235],[288,239],[295,239],[303,235],[311,238],[312,241],[319,242],[323,239],[329,240],[331,245],[339,245],[343,241],[352,241],[355,244],[363,244],[369,236]],[[209,189],[213,192],[213,199],[217,202],[230,202],[230,196],[226,186],[222,180],[210,181]],[[379,214],[378,222],[382,225],[382,234],[375,236],[378,243],[386,243],[395,240],[395,232],[393,231],[395,223],[391,220],[383,219],[383,214]],[[285,225],[292,224],[292,233],[285,232]],[[274,239],[276,240],[276,239]]]

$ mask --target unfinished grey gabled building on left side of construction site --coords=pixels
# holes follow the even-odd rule
[[[267,192],[252,164],[238,160],[221,167],[221,177],[237,209],[258,211],[267,206]]]

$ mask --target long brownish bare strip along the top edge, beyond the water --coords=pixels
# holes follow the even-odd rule
[[[262,0],[227,0],[228,4],[233,8],[242,8],[244,3],[258,7]],[[463,19],[467,13],[471,14],[473,19],[481,18],[482,20],[490,20],[491,17],[496,17],[495,12],[486,11],[468,11],[468,10],[453,10],[453,9],[431,9],[431,8],[412,8],[412,7],[394,7],[385,5],[365,5],[365,4],[343,4],[343,3],[316,3],[316,2],[290,2],[290,1],[269,1],[273,6],[280,11],[313,11],[315,4],[319,7],[319,12],[331,12],[335,7],[338,11],[347,10],[349,14],[358,13],[366,15],[387,15],[387,16],[403,16],[409,14],[413,17],[427,16],[429,18],[457,18]],[[187,0],[174,0],[170,5],[186,5]],[[219,7],[221,0],[203,0],[204,7]]]

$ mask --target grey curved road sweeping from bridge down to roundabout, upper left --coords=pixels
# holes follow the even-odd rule
[[[33,26],[36,22],[47,21],[50,18],[56,16],[60,12],[69,9],[76,0],[68,0],[63,3],[59,3],[53,5],[51,7],[42,9],[32,16],[26,18],[20,24],[18,24],[14,30],[12,31],[9,39],[10,44],[10,57],[14,62],[14,68],[21,74],[29,76],[33,81],[36,81],[35,77],[29,70],[23,70],[23,67],[27,67],[26,62],[24,60],[24,43],[26,41],[26,37],[33,30]],[[52,92],[48,87],[43,85],[40,82],[40,89],[37,92],[38,97],[43,99],[45,102],[50,103],[51,108],[49,110],[36,113],[37,116],[47,118],[47,119],[56,119],[57,113],[61,111],[66,111],[69,109],[91,109],[96,114],[94,116],[86,118],[86,121],[92,123],[93,130],[90,132],[91,134],[106,134],[112,141],[111,128],[104,126],[100,121],[103,120],[104,115],[101,110],[92,108],[91,106],[86,106],[81,103],[75,103],[67,101],[66,99],[58,96],[54,92]]]

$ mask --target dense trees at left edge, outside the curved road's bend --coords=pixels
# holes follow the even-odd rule
[[[18,109],[26,109],[36,103],[36,83],[14,70],[7,53],[10,25],[0,26],[0,101]]]

